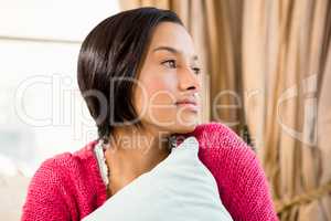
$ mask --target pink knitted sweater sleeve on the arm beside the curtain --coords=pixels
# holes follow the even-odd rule
[[[234,220],[277,220],[265,172],[252,147],[221,123],[199,125],[190,135],[199,140],[199,158],[214,176]]]

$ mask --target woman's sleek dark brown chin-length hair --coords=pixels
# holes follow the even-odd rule
[[[170,10],[122,11],[97,24],[82,44],[78,86],[96,122],[98,137],[105,143],[117,123],[137,119],[132,104],[134,82],[128,80],[138,77],[153,30],[164,21],[183,25]],[[142,126],[139,120],[134,125]]]

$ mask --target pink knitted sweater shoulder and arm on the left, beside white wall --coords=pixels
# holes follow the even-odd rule
[[[75,152],[62,152],[41,164],[30,181],[22,220],[70,214],[83,218],[104,203],[106,187],[94,158],[95,144],[90,141]]]

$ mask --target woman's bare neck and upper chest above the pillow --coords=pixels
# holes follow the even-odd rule
[[[169,133],[157,129],[116,128],[106,150],[113,183],[118,188],[125,186],[167,158],[170,154],[169,136]]]

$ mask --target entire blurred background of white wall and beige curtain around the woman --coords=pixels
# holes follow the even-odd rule
[[[331,221],[330,0],[0,0],[0,218],[19,220],[40,164],[97,136],[81,43],[121,10],[175,11],[203,66],[201,123],[256,151],[280,220]]]

